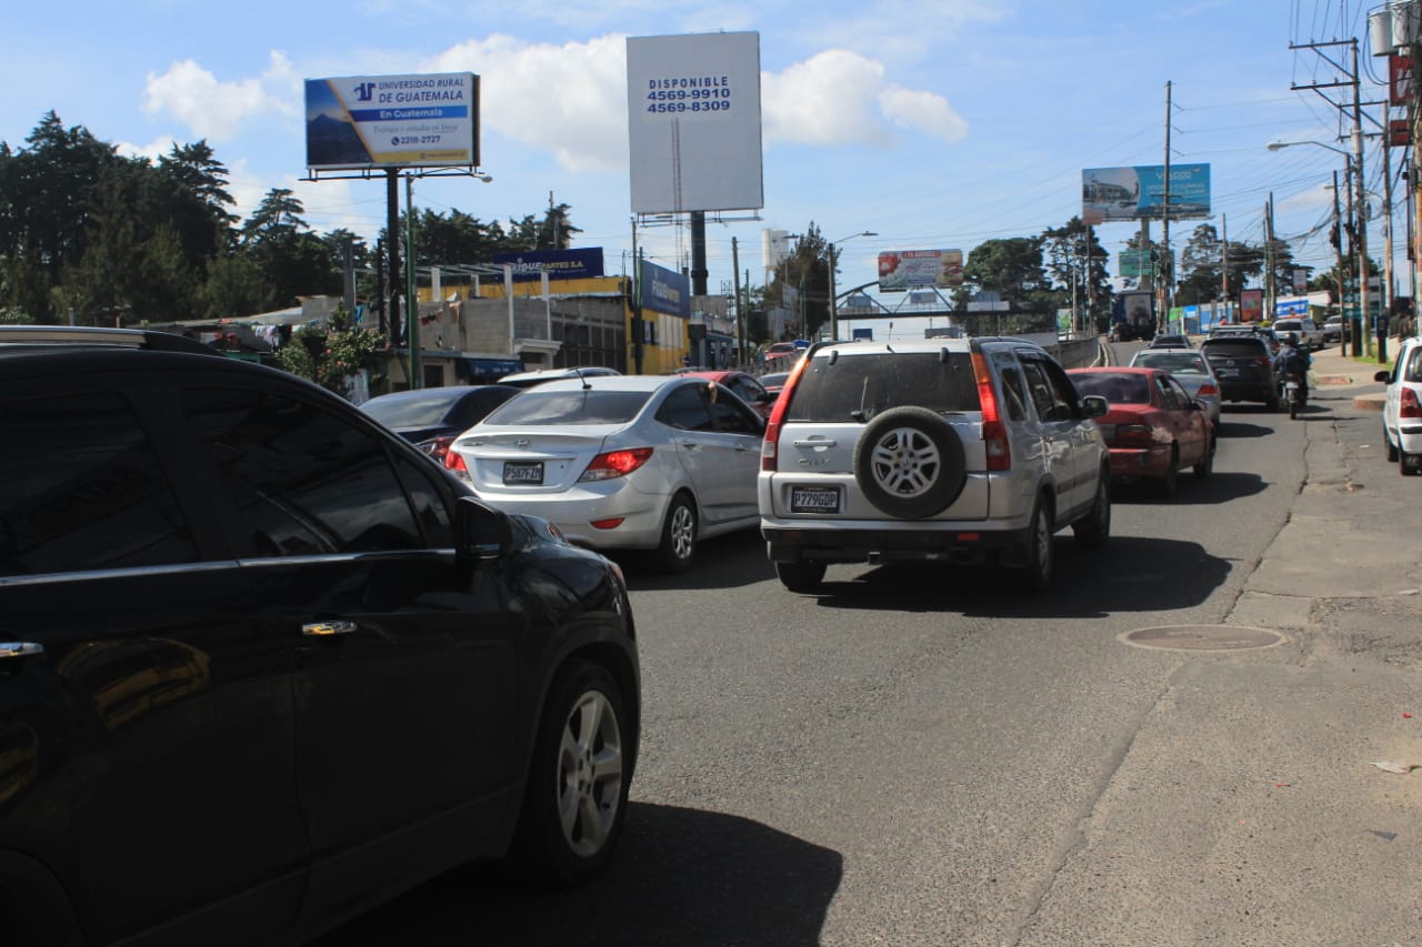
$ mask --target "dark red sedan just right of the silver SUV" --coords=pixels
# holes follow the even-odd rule
[[[1111,448],[1113,478],[1152,478],[1175,493],[1180,468],[1204,479],[1214,469],[1214,425],[1167,371],[1158,368],[1072,368],[1081,395],[1101,395],[1109,410],[1096,419]]]

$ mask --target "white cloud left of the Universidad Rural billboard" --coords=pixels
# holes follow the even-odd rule
[[[193,60],[168,67],[166,73],[148,74],[144,111],[168,114],[179,119],[198,138],[220,142],[242,131],[250,119],[269,115],[296,115],[299,78],[282,53],[272,53],[270,65],[257,78],[222,82]]]

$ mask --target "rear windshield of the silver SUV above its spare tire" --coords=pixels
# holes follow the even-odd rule
[[[899,405],[931,411],[981,411],[967,353],[816,355],[805,367],[786,421],[869,421]]]

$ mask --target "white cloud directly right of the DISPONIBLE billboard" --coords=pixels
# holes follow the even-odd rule
[[[946,98],[884,81],[876,60],[828,50],[762,75],[765,141],[806,145],[886,144],[892,128],[957,141],[967,122]]]

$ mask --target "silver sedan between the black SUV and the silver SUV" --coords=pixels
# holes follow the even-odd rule
[[[455,439],[447,466],[499,509],[593,549],[691,567],[702,539],[757,525],[765,421],[694,375],[550,381]]]

